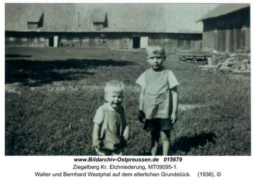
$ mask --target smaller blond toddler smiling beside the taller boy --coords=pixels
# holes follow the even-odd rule
[[[122,106],[124,85],[112,80],[105,86],[106,103],[98,108],[93,119],[93,149],[102,156],[122,156],[129,136],[129,127]]]

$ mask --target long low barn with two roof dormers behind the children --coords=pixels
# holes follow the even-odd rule
[[[5,45],[201,49],[208,4],[5,4]]]

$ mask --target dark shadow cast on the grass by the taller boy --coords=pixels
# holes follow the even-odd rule
[[[199,135],[195,135],[193,137],[182,136],[177,139],[174,144],[171,145],[170,152],[176,153],[178,150],[188,153],[192,147],[197,148],[199,145],[204,146],[208,142],[216,143],[214,138],[217,138],[215,133],[202,133]],[[163,155],[163,147],[159,147],[157,150],[157,155]],[[145,152],[139,154],[139,156],[151,156],[150,152]]]

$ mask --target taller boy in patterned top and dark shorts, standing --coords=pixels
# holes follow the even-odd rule
[[[170,150],[170,130],[177,120],[177,79],[163,67],[166,56],[161,44],[146,48],[146,60],[150,68],[136,81],[141,86],[140,122],[145,118],[144,130],[151,131],[153,156],[157,153],[159,139],[163,140],[163,155]]]

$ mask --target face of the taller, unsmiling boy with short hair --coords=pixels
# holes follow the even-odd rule
[[[163,67],[163,62],[166,59],[161,53],[154,54],[153,52],[147,52],[146,60],[153,70],[157,71]]]

